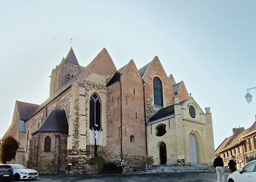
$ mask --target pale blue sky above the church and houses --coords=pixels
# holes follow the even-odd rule
[[[215,147],[256,114],[256,1],[0,1],[0,137],[15,100],[41,104],[50,72],[70,49],[86,66],[103,47],[117,69],[157,55],[211,107]],[[54,40],[55,37],[55,40]]]

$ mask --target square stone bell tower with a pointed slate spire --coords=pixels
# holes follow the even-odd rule
[[[83,67],[79,66],[71,47],[66,58],[63,57],[61,63],[52,70],[52,75],[50,75],[50,96],[69,82],[82,69]]]

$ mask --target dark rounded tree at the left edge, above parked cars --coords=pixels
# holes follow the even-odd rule
[[[1,146],[1,158],[4,164],[12,159],[15,159],[19,145],[19,142],[13,136],[3,138]]]

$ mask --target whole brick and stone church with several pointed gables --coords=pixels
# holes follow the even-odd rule
[[[20,142],[14,161],[57,174],[99,156],[123,172],[150,164],[212,164],[210,107],[200,109],[183,81],[167,76],[158,57],[116,69],[104,48],[86,67],[72,47],[50,76],[41,105],[16,101],[5,136]]]

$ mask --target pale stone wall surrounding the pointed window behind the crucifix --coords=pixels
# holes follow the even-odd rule
[[[103,84],[89,80],[78,81],[84,86],[76,84],[72,86],[71,112],[73,113],[70,120],[70,137],[72,148],[68,149],[67,162],[74,168],[82,168],[84,163],[88,163],[91,158],[95,157],[95,145],[90,144],[89,138],[89,99],[93,93],[97,93],[101,99],[101,127],[102,132],[106,132],[106,87]],[[86,138],[85,142],[82,137]],[[102,134],[102,145],[97,146],[98,156],[106,159],[106,137]]]

